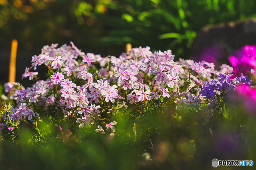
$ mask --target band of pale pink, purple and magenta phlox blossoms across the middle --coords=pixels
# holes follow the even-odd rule
[[[96,122],[99,128],[96,132],[102,133],[105,131],[99,123],[105,122],[100,121],[105,113],[113,111],[110,103],[113,107],[127,107],[127,100],[132,105],[172,98],[177,111],[201,110],[208,106],[210,112],[211,104],[220,102],[237,84],[252,81],[241,75],[246,73],[244,70],[255,67],[256,54],[249,48],[241,64],[230,57],[234,71],[226,64],[217,71],[213,63],[205,61],[174,61],[171,50],[152,53],[150,47],[132,48],[117,58],[86,54],[72,42],[71,46],[57,46],[44,46],[41,54],[32,57],[32,67],[26,68],[23,74],[23,78],[29,77],[29,80],[36,77],[32,87],[6,84],[6,91],[11,90],[11,98],[17,102],[11,116],[31,120],[39,115],[39,106],[53,107],[61,110],[65,119],[74,117],[81,128],[89,128]],[[38,72],[30,72],[41,65],[49,69],[47,80],[38,80]],[[238,73],[241,73],[240,78],[237,78]],[[115,124],[105,125],[107,131],[112,130],[111,136],[115,134]]]

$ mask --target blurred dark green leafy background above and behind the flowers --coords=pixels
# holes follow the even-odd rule
[[[25,67],[30,66],[31,57],[51,43],[62,45],[73,41],[84,52],[105,57],[119,56],[129,42],[133,47],[150,46],[153,51],[172,49],[178,60],[197,56],[205,45],[225,41],[221,46],[231,44],[231,48],[217,55],[227,56],[243,45],[252,45],[256,41],[255,29],[254,36],[247,36],[247,41],[241,41],[242,36],[235,42],[227,39],[244,30],[218,30],[222,34],[216,35],[209,29],[215,28],[212,27],[215,24],[253,18],[255,3],[254,0],[0,0],[0,81],[8,81],[6,63],[14,38],[19,42],[16,76],[19,82]],[[206,25],[213,37],[202,34],[193,47],[197,34]],[[230,28],[233,27],[231,24]],[[213,40],[216,36],[220,38]],[[215,51],[218,50],[221,47]]]

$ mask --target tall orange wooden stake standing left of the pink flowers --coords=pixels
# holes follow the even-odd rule
[[[15,82],[16,78],[16,57],[17,57],[18,41],[12,41],[12,51],[10,58],[9,82]]]

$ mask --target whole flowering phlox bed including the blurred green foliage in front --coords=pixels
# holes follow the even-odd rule
[[[171,50],[102,57],[70,44],[32,57],[31,87],[5,84],[3,167],[205,169],[215,156],[253,158],[255,46],[217,71]]]

